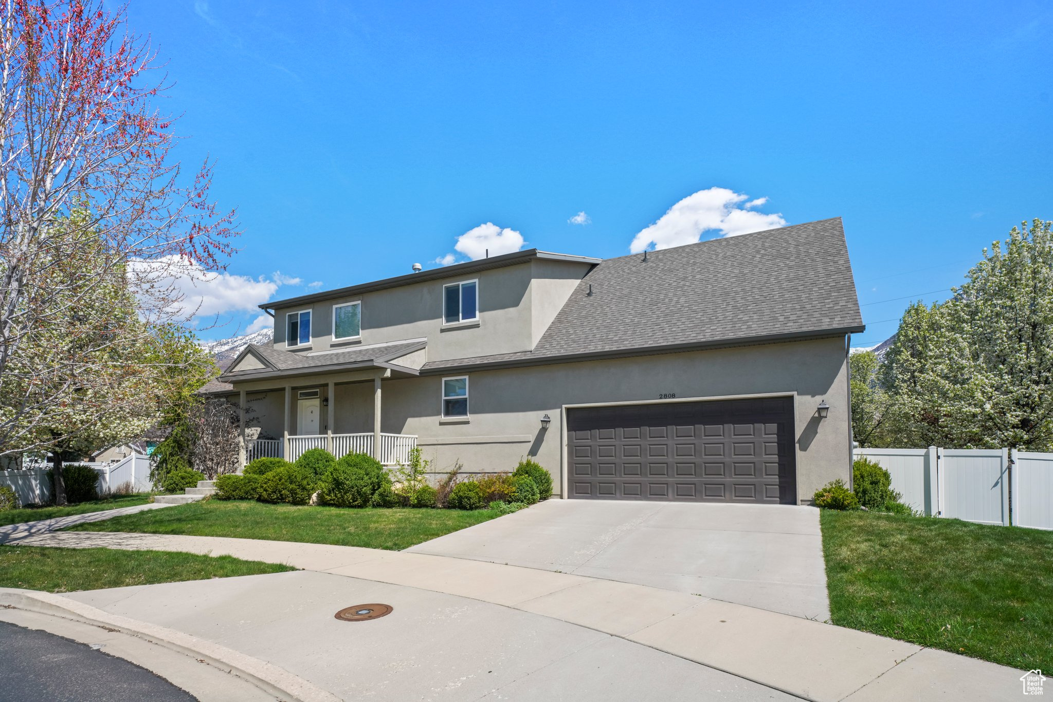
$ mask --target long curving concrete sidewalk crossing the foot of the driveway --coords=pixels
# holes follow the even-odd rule
[[[1016,689],[1020,675],[975,659],[686,593],[482,561],[150,534],[48,534],[21,543],[231,555],[442,593],[577,624],[810,700],[1001,699]]]

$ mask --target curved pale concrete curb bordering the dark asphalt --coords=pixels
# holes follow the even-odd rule
[[[190,634],[112,615],[108,611],[59,595],[0,587],[0,607],[58,616],[145,639],[185,656],[203,660],[219,669],[227,670],[281,700],[340,702],[340,698],[332,693],[258,658],[246,656],[233,648],[199,639]]]

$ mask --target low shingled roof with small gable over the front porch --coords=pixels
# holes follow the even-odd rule
[[[274,346],[262,346],[249,344],[238,358],[230,365],[230,368],[237,368],[241,359],[252,354],[267,367],[254,368],[251,370],[226,370],[217,379],[221,385],[229,385],[233,381],[257,380],[263,378],[276,378],[282,376],[310,375],[314,373],[329,373],[331,370],[349,370],[357,368],[391,368],[397,366],[398,370],[416,374],[416,369],[399,366],[392,361],[401,356],[419,350],[428,345],[423,340],[410,340],[394,344],[375,344],[370,346],[357,346],[345,350],[321,352],[317,354],[294,354],[292,352],[279,350]],[[206,384],[202,392],[210,392]],[[211,392],[222,392],[221,385],[213,386]]]

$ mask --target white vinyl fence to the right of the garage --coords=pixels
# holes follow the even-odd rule
[[[929,516],[1053,529],[1053,454],[1007,448],[857,448]]]

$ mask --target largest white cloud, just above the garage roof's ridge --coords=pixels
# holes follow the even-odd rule
[[[764,204],[768,198],[757,198],[739,206],[747,199],[748,196],[727,187],[698,190],[677,202],[657,222],[637,234],[629,250],[639,254],[652,244],[656,249],[693,244],[701,239],[703,232],[715,230],[723,237],[735,237],[786,225],[782,215],[748,209]]]

